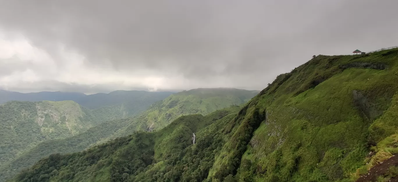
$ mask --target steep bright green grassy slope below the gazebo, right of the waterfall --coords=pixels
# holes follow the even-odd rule
[[[247,125],[238,133],[253,136],[234,134],[216,157],[209,178],[222,181],[236,174],[238,181],[354,180],[348,174],[366,163],[369,146],[396,132],[397,53],[317,56],[280,75],[250,101],[242,117]],[[363,68],[359,62],[373,64]],[[387,68],[380,70],[383,65]],[[258,123],[253,119],[258,116],[265,120]]]

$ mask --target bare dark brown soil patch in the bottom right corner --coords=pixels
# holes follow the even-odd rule
[[[382,163],[375,165],[367,174],[359,177],[356,182],[376,182],[377,177],[382,176],[386,172],[388,172],[388,168],[390,168],[390,166],[398,166],[398,155],[394,155],[390,157],[390,159],[387,159]],[[390,182],[398,182],[398,178],[392,178]]]

